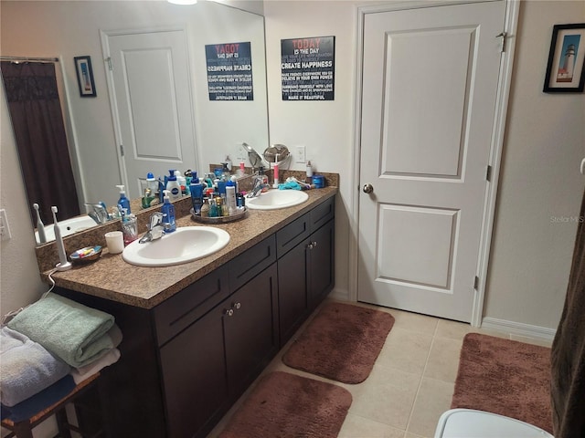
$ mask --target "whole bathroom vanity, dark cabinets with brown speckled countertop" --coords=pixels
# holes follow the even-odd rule
[[[56,274],[59,294],[111,313],[124,337],[121,360],[102,370],[103,418],[80,409],[80,422],[111,437],[207,436],[334,287],[335,193],[218,225],[229,245],[194,262],[106,254]]]

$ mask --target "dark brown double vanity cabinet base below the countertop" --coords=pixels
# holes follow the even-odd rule
[[[66,289],[116,318],[102,371],[107,436],[202,438],[334,286],[334,198],[152,309]]]

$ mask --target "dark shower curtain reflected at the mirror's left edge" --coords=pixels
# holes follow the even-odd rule
[[[55,65],[2,61],[0,66],[32,223],[37,222],[33,203],[45,224],[53,222],[51,205],[58,206],[58,219],[79,215]]]

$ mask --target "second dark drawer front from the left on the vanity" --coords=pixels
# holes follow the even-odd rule
[[[276,240],[274,235],[271,235],[229,262],[231,290],[237,290],[275,261]]]

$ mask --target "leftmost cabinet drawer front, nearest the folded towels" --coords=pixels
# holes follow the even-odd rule
[[[229,297],[228,272],[226,266],[221,266],[154,308],[159,346]]]

